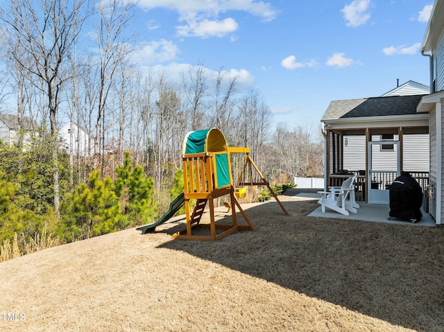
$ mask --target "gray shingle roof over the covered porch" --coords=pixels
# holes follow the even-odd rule
[[[364,116],[416,114],[416,105],[424,94],[332,101],[321,121]]]

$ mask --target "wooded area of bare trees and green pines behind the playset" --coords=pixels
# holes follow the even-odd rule
[[[0,113],[17,115],[20,132],[0,145],[5,248],[19,238],[24,253],[36,234],[67,242],[157,218],[180,191],[191,130],[217,127],[230,146],[250,147],[271,183],[323,175],[318,126],[272,128],[265,96],[240,91],[229,71],[197,62],[173,80],[139,66],[134,9],[123,0],[9,0],[0,9]]]

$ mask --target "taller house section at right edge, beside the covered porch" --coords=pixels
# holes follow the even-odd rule
[[[444,0],[436,0],[425,30],[421,53],[429,58],[431,94],[423,96],[416,107],[429,118],[430,175],[429,213],[441,225],[444,220]]]

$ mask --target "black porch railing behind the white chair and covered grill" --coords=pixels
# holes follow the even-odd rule
[[[429,172],[408,171],[410,175],[418,181],[418,184],[424,192],[429,185]],[[341,186],[345,179],[352,175],[357,175],[355,182],[356,200],[366,202],[367,198],[367,179],[365,175],[361,175],[362,171],[347,171],[341,174],[330,175],[328,186]],[[388,190],[390,184],[395,180],[395,173],[373,172],[372,173],[372,189]]]

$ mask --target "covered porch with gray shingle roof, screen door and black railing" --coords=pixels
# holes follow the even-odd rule
[[[416,112],[421,96],[332,101],[321,120],[325,187],[340,186],[357,175],[357,200],[388,204],[388,187],[401,171],[407,171],[425,191],[429,123],[428,114]]]

